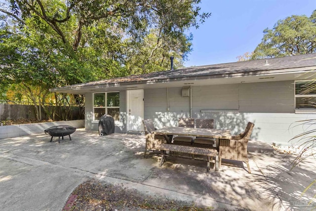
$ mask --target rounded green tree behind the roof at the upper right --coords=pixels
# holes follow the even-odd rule
[[[251,59],[273,58],[316,52],[316,10],[310,17],[292,15],[265,29],[262,42]]]

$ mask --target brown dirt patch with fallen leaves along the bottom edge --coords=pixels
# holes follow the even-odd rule
[[[71,194],[78,195],[71,208],[63,211],[213,211],[210,207],[148,196],[121,185],[89,180]],[[70,196],[70,197],[71,197]]]

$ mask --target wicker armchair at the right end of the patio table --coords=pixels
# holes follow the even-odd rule
[[[248,172],[251,173],[248,161],[247,144],[254,124],[248,123],[245,131],[232,139],[221,139],[219,143],[219,167],[222,159],[242,161],[247,164]]]

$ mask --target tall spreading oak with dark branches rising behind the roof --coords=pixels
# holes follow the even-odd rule
[[[142,48],[140,43],[157,30],[159,33],[155,36],[160,51],[163,49],[164,55],[172,52],[180,54],[181,56],[174,55],[174,57],[179,58],[181,63],[186,53],[191,50],[188,47],[190,38],[184,36],[185,30],[190,26],[198,27],[199,23],[210,15],[210,13],[199,12],[200,0],[176,2],[173,0],[69,0],[66,2],[11,0],[10,2],[12,12],[6,14],[12,17],[18,16],[16,20],[20,24],[27,18],[33,18],[33,21],[43,26],[40,28],[42,31],[51,28],[54,32],[51,35],[57,36],[65,49],[73,51],[69,55],[73,57],[76,54],[80,61],[89,60],[90,64],[85,63],[85,66],[92,68],[93,76],[101,76],[101,79],[113,78],[117,74],[120,76],[120,72],[140,74],[157,71],[159,68],[144,70],[146,64],[153,61],[153,53],[140,52]],[[161,43],[164,43],[163,48]],[[183,46],[177,48],[182,52],[174,51],[174,46],[177,45]],[[98,48],[105,49],[105,52],[100,52]],[[135,57],[136,60],[138,58],[143,60],[141,72],[138,72],[139,62],[132,62],[130,56]],[[129,69],[126,70],[126,67]],[[159,70],[162,67],[164,65],[160,65]]]

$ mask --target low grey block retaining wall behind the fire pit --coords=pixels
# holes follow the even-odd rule
[[[0,126],[0,139],[43,133],[52,126],[68,125],[76,128],[84,127],[84,120],[58,121],[50,123],[34,123],[24,125]]]

